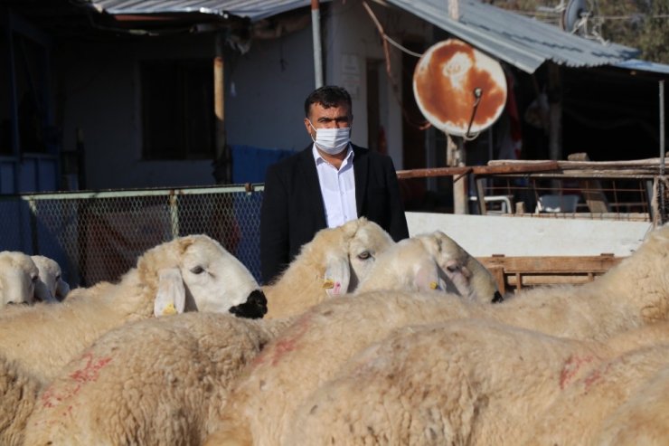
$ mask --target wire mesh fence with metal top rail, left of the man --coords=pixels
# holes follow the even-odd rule
[[[257,280],[263,185],[0,196],[0,251],[58,261],[71,286],[114,281],[157,244],[205,233]]]

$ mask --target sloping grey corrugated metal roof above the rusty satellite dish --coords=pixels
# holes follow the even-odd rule
[[[476,0],[459,1],[457,21],[448,15],[447,0],[387,1],[528,73],[546,61],[593,67],[623,62],[638,54],[634,48],[599,43]]]

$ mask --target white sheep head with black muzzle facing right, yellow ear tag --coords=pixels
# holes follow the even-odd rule
[[[156,317],[184,311],[210,311],[261,318],[266,301],[258,282],[219,242],[188,235],[146,251],[137,261],[139,282],[155,290]],[[248,303],[248,300],[252,302]]]

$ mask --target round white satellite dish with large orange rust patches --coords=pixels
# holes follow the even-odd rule
[[[448,39],[420,57],[413,72],[413,95],[434,127],[471,138],[502,114],[506,78],[499,62],[468,43]]]

